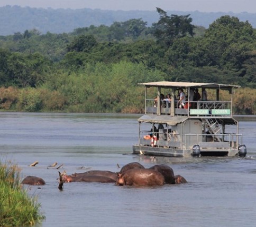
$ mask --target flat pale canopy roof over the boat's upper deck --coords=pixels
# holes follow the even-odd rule
[[[158,82],[149,82],[149,83],[140,83],[146,87],[205,87],[210,89],[221,89],[231,91],[232,88],[239,88],[241,86],[231,85],[231,84],[215,84],[215,83],[189,83],[189,82],[171,82],[171,81],[158,81]]]

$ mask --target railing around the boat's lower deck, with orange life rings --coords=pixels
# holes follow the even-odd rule
[[[199,145],[203,150],[209,149],[238,149],[240,144],[243,144],[242,134],[179,134],[175,132],[140,132],[139,144],[151,146],[153,140],[149,135],[152,133],[157,137],[156,146],[191,149],[194,145]],[[146,135],[146,136],[145,136]],[[148,139],[145,139],[148,138]]]

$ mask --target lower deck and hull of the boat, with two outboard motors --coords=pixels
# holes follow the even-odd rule
[[[149,117],[139,119],[139,141],[133,146],[134,154],[181,157],[246,153],[245,146],[241,149],[242,134],[238,133],[234,119],[166,117],[168,121],[163,121],[160,117]],[[226,124],[231,124],[232,130]]]

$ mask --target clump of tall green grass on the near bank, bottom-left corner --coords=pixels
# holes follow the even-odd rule
[[[44,219],[36,198],[22,188],[16,165],[0,162],[0,192],[0,226],[32,226]]]

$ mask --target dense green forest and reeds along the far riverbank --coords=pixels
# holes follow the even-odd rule
[[[241,85],[234,111],[255,114],[252,25],[226,15],[205,29],[189,14],[157,13],[152,26],[140,18],[0,36],[1,110],[141,113],[138,83],[166,80]]]

